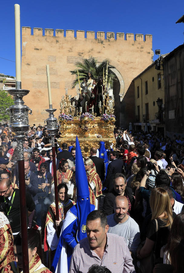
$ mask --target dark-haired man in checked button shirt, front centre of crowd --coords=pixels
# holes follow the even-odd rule
[[[87,273],[90,266],[107,267],[112,273],[135,273],[132,257],[125,239],[107,233],[107,217],[102,211],[92,211],[87,216],[87,238],[74,248],[69,273]]]

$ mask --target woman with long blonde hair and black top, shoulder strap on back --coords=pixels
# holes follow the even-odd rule
[[[155,250],[156,258],[160,257],[160,249],[167,243],[173,223],[173,212],[167,191],[154,188],[150,195],[152,218],[148,225],[146,241],[142,248],[136,251],[136,258],[143,259]]]

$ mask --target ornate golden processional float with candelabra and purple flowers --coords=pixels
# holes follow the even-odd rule
[[[80,79],[78,75],[79,91],[81,95]],[[113,89],[110,89],[110,80],[107,83],[108,75],[108,60],[106,75],[103,72],[103,82],[101,85],[102,95],[101,99],[98,101],[99,116],[94,113],[94,106],[91,108],[91,112],[83,111],[82,107],[76,106],[76,99],[73,100],[71,95],[68,95],[66,90],[65,96],[62,96],[60,102],[60,132],[61,138],[58,139],[58,143],[61,147],[62,143],[75,142],[76,135],[80,142],[80,148],[83,157],[90,156],[90,149],[92,147],[99,148],[100,141],[106,143],[106,148],[110,149],[112,144],[115,144],[116,140],[114,138],[114,96]]]

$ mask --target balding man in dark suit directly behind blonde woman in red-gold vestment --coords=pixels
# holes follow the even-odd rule
[[[91,148],[90,150],[90,159],[93,160],[97,174],[100,177],[101,181],[104,181],[105,178],[105,166],[104,166],[104,160],[100,157],[97,157],[97,149],[95,147]]]

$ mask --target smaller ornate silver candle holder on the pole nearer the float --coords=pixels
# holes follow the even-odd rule
[[[52,143],[52,147],[55,147],[55,143],[54,143],[54,136],[57,132],[57,118],[54,117],[54,112],[56,111],[56,109],[46,109],[45,111],[47,111],[49,113],[49,117],[48,119],[46,119],[47,122],[47,130],[51,135],[51,143]]]

